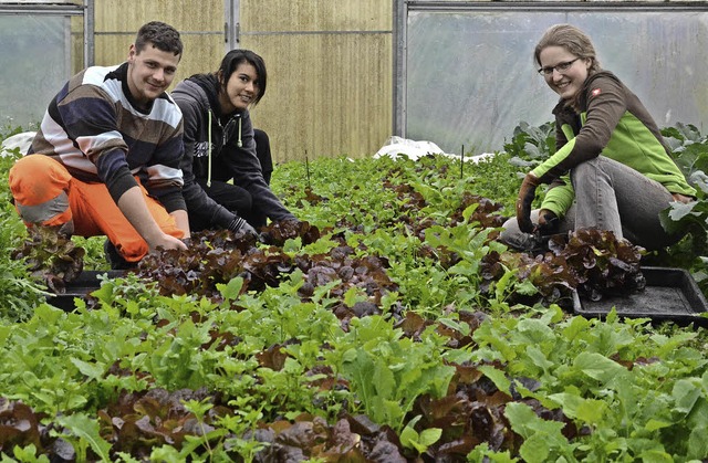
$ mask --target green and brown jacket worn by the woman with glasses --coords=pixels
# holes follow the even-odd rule
[[[671,193],[696,194],[647,109],[613,73],[590,75],[579,107],[576,112],[561,101],[553,109],[556,151],[532,170],[542,183],[551,183],[542,209],[563,217],[574,198],[568,173],[600,155],[632,167]]]

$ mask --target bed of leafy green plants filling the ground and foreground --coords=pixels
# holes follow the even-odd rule
[[[1,160],[0,260],[17,281],[0,283],[2,457],[701,461],[705,329],[520,304],[516,296],[537,290],[519,269],[487,275],[491,257],[509,253],[492,219],[512,213],[520,175],[553,150],[550,134],[521,125],[478,165],[279,166],[273,189],[322,236],[264,246],[266,255],[322,260],[327,270],[376,259],[392,283],[385,291],[365,278],[342,290],[345,272],[313,282],[295,270],[259,291],[238,276],[217,284],[218,297],[197,297],[128,274],[102,278],[73,312],[43,302],[42,285],[10,257],[27,233],[9,202],[11,159]],[[689,126],[667,136],[687,175],[700,178],[707,141]],[[690,211],[667,212],[693,228],[656,256],[689,255],[681,261],[697,280],[705,192]],[[94,241],[77,242],[101,269]],[[335,255],[343,250],[350,261]]]

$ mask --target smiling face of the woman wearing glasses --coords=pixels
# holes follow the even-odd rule
[[[539,61],[545,83],[563,99],[580,92],[592,64],[590,59],[579,59],[563,46],[546,46],[539,53]]]

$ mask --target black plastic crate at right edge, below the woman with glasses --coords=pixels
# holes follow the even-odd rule
[[[642,267],[642,273],[646,278],[644,291],[600,301],[587,301],[574,293],[573,311],[584,317],[604,318],[615,307],[621,317],[708,326],[708,303],[690,273],[669,267]]]

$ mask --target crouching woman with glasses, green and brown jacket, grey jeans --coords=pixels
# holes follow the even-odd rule
[[[529,250],[539,233],[596,228],[648,250],[678,241],[663,229],[659,212],[673,201],[690,201],[696,190],[639,98],[600,66],[590,38],[573,25],[548,29],[533,59],[560,96],[556,152],[527,173],[517,217],[504,223],[500,240]],[[531,211],[541,183],[550,189],[541,209]]]

